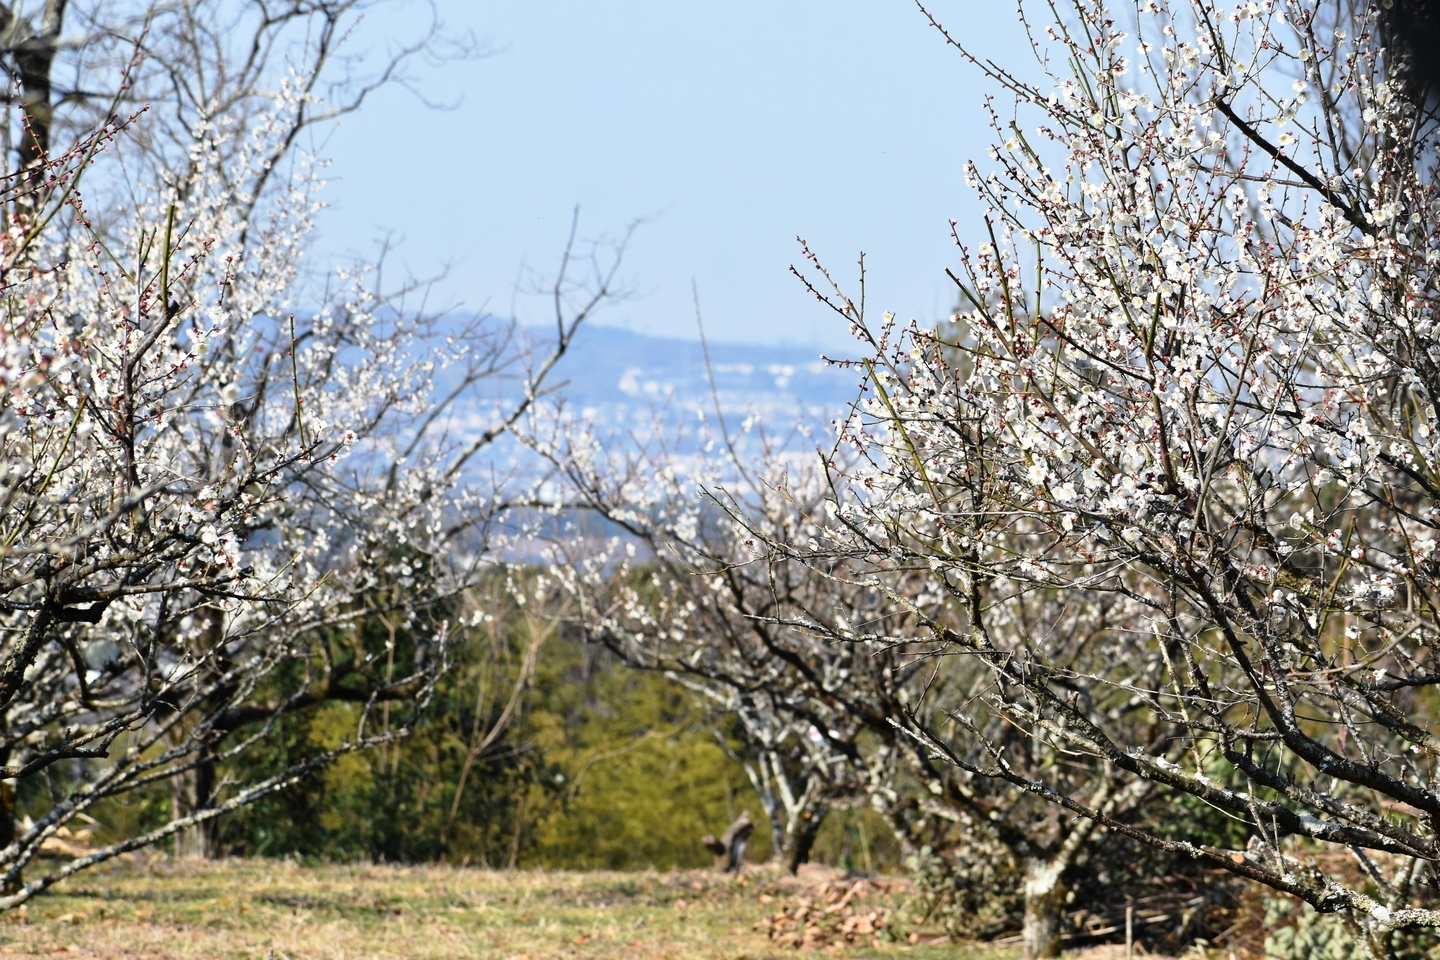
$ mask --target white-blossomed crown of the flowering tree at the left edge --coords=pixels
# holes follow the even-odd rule
[[[513,331],[416,317],[364,269],[301,301],[323,187],[289,153],[301,86],[206,118],[183,176],[128,181],[117,121],[46,161],[53,189],[0,197],[0,779],[84,764],[0,848],[0,907],[65,874],[9,892],[99,799],[223,761],[239,773],[213,816],[325,760],[246,779],[284,712],[423,702],[436,610],[484,560],[471,533],[501,498],[464,466],[508,422],[446,426],[516,364]],[[377,606],[387,651],[364,639]],[[367,711],[337,751],[402,730]]]

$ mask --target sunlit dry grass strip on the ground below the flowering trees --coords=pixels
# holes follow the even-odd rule
[[[893,918],[903,895],[883,881],[819,871],[796,879],[756,869],[736,881],[706,872],[132,862],[84,874],[0,918],[0,954],[1012,960],[900,927]],[[920,943],[907,943],[912,936]]]

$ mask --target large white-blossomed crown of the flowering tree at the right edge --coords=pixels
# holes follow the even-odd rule
[[[989,666],[991,711],[1267,851],[1194,855],[1371,915],[1284,838],[1440,843],[1416,699],[1440,676],[1440,134],[1387,14],[1348,10],[1081,0],[1051,89],[972,58],[1015,99],[994,170],[966,170],[982,242],[939,328],[832,304],[868,389],[809,561],[929,570],[950,606],[926,635]],[[1103,815],[976,743],[989,776]]]

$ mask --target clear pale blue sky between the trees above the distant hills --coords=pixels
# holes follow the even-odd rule
[[[603,322],[693,337],[694,278],[716,338],[842,343],[788,273],[796,235],[847,282],[865,250],[876,315],[949,312],[948,219],[975,225],[962,166],[989,144],[989,88],[910,0],[436,3],[495,52],[419,71],[456,109],[389,89],[330,137],[323,252],[390,230],[412,272],[449,265],[444,299],[543,320],[516,281],[553,271],[579,204],[585,236],[648,220]],[[932,10],[985,55],[1027,56],[1008,0]],[[353,49],[415,14],[370,14]]]

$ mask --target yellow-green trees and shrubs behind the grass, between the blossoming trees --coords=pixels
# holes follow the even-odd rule
[[[749,812],[757,829],[747,858],[770,858],[769,823],[733,720],[671,678],[586,643],[564,596],[537,570],[497,573],[464,606],[452,613],[468,626],[452,635],[449,669],[412,735],[348,754],[238,810],[220,820],[209,848],[236,856],[667,869],[710,865],[700,838]],[[412,648],[389,636],[383,613],[363,620],[360,632],[380,656]],[[361,710],[331,702],[284,717],[246,757],[248,776],[334,748]],[[387,723],[383,707],[374,721]],[[233,771],[216,773],[223,780]],[[29,782],[20,797],[32,818],[48,807],[39,786]],[[120,839],[164,823],[174,803],[168,783],[105,803],[95,835]],[[847,869],[900,865],[884,825],[867,810],[832,816],[812,856]]]

